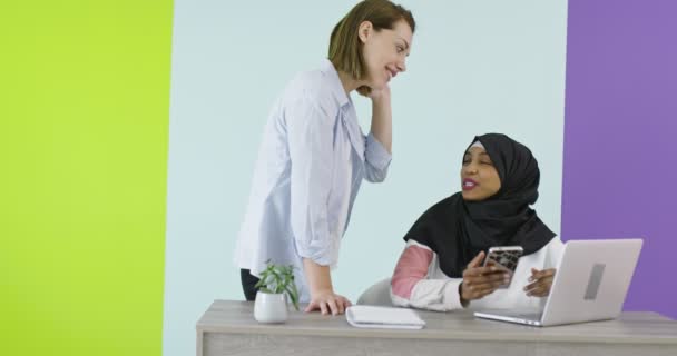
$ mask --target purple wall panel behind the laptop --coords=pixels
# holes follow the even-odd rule
[[[626,310],[677,318],[677,1],[569,0],[562,238],[645,237]]]

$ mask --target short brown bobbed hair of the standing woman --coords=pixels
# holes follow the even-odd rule
[[[392,30],[395,22],[404,20],[412,33],[416,28],[411,11],[389,0],[364,0],[357,3],[332,31],[328,59],[336,70],[346,72],[355,79],[366,75],[362,43],[357,30],[364,21],[370,21],[375,30]]]

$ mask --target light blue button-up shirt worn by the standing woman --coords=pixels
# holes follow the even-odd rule
[[[294,265],[310,301],[302,257],[336,266],[362,179],[385,179],[391,155],[357,125],[338,73],[325,60],[298,73],[268,116],[239,230],[235,264],[253,275],[266,260]]]

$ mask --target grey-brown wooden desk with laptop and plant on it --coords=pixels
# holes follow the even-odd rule
[[[539,328],[419,310],[425,328],[393,330],[295,310],[285,324],[265,325],[253,310],[251,301],[214,301],[197,323],[197,355],[677,355],[677,322],[656,313]]]

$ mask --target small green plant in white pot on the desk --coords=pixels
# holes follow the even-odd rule
[[[287,319],[287,297],[298,310],[298,290],[294,283],[294,266],[267,261],[256,284],[254,318],[259,323],[284,323]]]

